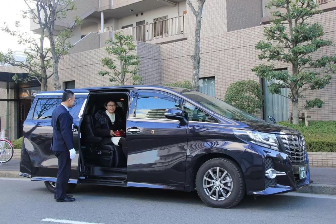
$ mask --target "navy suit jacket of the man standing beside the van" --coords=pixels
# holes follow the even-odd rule
[[[74,148],[72,132],[73,117],[63,105],[58,105],[52,111],[51,126],[53,130],[50,149],[66,151]]]

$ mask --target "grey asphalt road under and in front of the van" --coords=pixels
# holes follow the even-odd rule
[[[157,189],[78,185],[73,195],[75,202],[57,203],[43,182],[0,178],[0,223],[332,224],[336,220],[336,196],[328,195],[246,197],[231,209],[209,208],[196,193]]]

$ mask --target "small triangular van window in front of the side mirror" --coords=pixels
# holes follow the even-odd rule
[[[188,121],[217,123],[210,115],[206,114],[191,103],[184,101],[183,103],[184,117]]]

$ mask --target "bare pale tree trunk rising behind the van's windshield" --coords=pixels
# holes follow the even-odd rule
[[[187,4],[190,7],[191,11],[196,17],[196,26],[195,26],[195,45],[194,45],[194,54],[191,55],[191,59],[193,61],[193,90],[198,91],[199,90],[199,78],[200,78],[200,63],[201,63],[201,57],[200,57],[200,39],[201,39],[201,25],[202,25],[202,11],[203,11],[203,5],[205,3],[205,0],[197,0],[198,3],[198,9],[194,8],[193,4],[190,2],[190,0],[187,0]]]

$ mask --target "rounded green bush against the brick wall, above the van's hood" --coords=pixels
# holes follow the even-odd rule
[[[224,100],[249,114],[256,114],[262,108],[263,95],[259,83],[249,79],[232,83]]]

